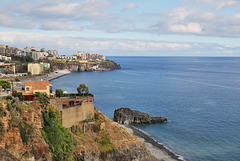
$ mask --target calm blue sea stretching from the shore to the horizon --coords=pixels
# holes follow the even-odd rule
[[[240,58],[109,59],[122,69],[76,72],[51,84],[69,93],[86,84],[95,107],[110,118],[121,107],[167,117],[167,123],[134,126],[185,160],[240,160]]]

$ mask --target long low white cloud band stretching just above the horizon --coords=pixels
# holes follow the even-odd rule
[[[214,52],[228,51],[229,47],[210,43],[187,43],[136,39],[105,39],[94,37],[81,37],[74,35],[40,34],[24,32],[0,32],[0,42],[10,46],[25,47],[35,46],[38,48],[56,49],[61,54],[75,54],[77,51],[88,51],[92,53],[111,53],[111,55],[127,52],[131,53],[194,53],[206,50]],[[239,53],[240,49],[231,47]]]

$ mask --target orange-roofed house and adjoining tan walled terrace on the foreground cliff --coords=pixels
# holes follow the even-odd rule
[[[46,93],[50,98],[50,103],[55,105],[60,112],[60,121],[65,128],[77,125],[80,121],[94,118],[94,95],[85,97],[55,98],[52,85],[49,81],[26,81],[25,90],[19,90],[24,96],[24,101],[33,101],[37,98],[37,92]]]

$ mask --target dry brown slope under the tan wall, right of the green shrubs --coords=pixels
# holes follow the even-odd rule
[[[95,120],[72,127],[78,141],[76,160],[147,161],[145,144],[109,118],[95,111]]]

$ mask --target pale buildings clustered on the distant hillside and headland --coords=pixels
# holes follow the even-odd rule
[[[100,54],[91,54],[87,52],[78,52],[72,56],[58,55],[57,50],[45,50],[44,48],[38,49],[36,47],[25,47],[24,49],[10,47],[8,45],[0,45],[0,77],[11,77],[17,75],[16,66],[11,63],[11,60],[15,58],[13,56],[29,56],[34,60],[47,58],[49,60],[61,59],[65,61],[80,61],[80,62],[104,62],[106,57]],[[86,65],[86,64],[85,64]],[[96,64],[92,69],[98,69],[99,66]],[[19,68],[17,68],[19,69]],[[50,71],[49,63],[28,63],[27,69],[23,67],[20,69],[22,73],[27,72],[32,75],[38,75]],[[26,73],[24,73],[26,75]]]

